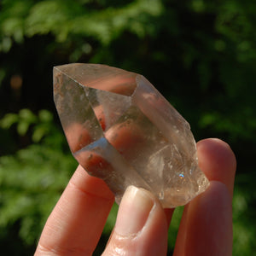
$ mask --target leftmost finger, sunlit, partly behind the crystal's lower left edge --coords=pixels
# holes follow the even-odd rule
[[[35,255],[90,255],[113,201],[106,183],[78,166],[44,226]]]

